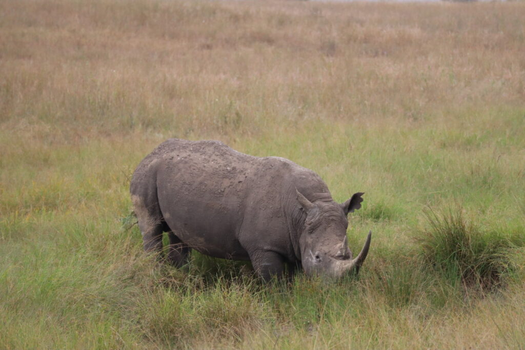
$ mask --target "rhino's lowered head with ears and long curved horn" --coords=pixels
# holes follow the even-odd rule
[[[372,232],[369,232],[361,252],[353,259],[346,238],[346,216],[361,208],[363,194],[355,193],[343,204],[333,200],[312,203],[297,191],[297,200],[306,213],[299,247],[301,264],[307,275],[339,278],[354,269],[356,273],[359,272],[370,248]]]

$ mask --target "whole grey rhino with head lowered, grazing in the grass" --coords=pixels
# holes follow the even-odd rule
[[[285,264],[340,277],[358,272],[370,247],[371,232],[352,259],[346,238],[346,215],[361,208],[363,193],[336,203],[313,171],[218,141],[163,142],[133,173],[130,192],[144,249],[160,252],[167,232],[167,259],[178,267],[195,249],[251,260],[266,281]]]

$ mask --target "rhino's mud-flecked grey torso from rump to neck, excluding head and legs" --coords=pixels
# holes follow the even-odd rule
[[[218,141],[172,139],[149,157],[167,225],[192,248],[219,258],[249,259],[247,249],[260,247],[296,256],[290,237],[290,216],[300,215],[293,212],[296,188],[328,192],[309,169]]]

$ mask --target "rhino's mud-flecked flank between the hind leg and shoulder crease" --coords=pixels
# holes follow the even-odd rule
[[[159,148],[157,191],[170,229],[202,253],[248,259],[236,234],[246,197],[244,181],[259,158],[218,141],[172,139]]]

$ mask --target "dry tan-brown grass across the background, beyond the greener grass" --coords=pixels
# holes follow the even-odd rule
[[[406,122],[525,99],[522,3],[0,6],[13,126],[254,132],[268,119]]]

